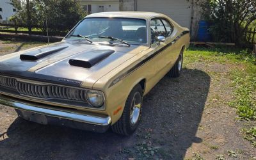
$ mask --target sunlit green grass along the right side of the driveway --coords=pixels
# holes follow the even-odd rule
[[[251,125],[243,129],[244,138],[256,147],[256,57],[247,49],[218,47],[214,49],[190,47],[185,53],[184,67],[195,62],[228,64],[234,99],[228,104],[237,109],[239,120]]]

